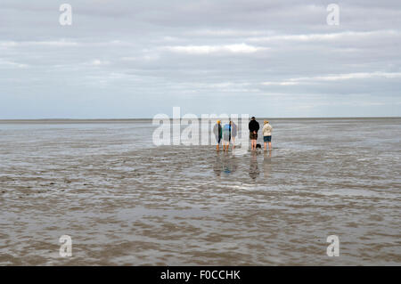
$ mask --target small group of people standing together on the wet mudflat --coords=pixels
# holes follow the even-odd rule
[[[257,149],[258,141],[258,131],[259,123],[255,117],[250,118],[250,124],[248,125],[250,129],[250,149]],[[225,126],[221,126],[221,120],[217,120],[217,124],[213,129],[217,140],[217,150],[220,150],[220,142],[223,140],[223,150],[228,150],[230,142],[233,140],[233,149],[235,148],[235,137],[237,136],[237,126],[233,121],[229,121]],[[265,150],[267,150],[267,143],[269,145],[269,150],[272,150],[272,132],[273,127],[269,124],[268,120],[264,121],[264,126],[262,129],[263,142],[265,142]]]

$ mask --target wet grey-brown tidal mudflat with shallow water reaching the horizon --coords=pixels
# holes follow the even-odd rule
[[[0,264],[400,265],[401,118],[271,124],[271,153],[217,153],[151,121],[1,122]]]

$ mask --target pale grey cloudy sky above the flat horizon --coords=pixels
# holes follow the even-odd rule
[[[399,0],[2,0],[0,119],[400,117],[400,51]]]

